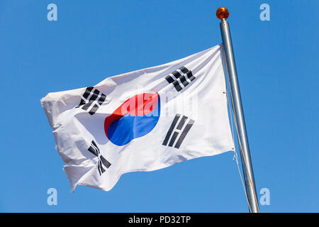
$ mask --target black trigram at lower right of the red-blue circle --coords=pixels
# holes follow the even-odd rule
[[[187,121],[187,123],[186,123],[186,121]],[[181,143],[183,143],[183,140],[186,137],[187,133],[189,133],[189,130],[191,129],[191,126],[193,126],[194,122],[195,121],[191,118],[177,114],[174,117],[172,125],[169,127],[169,131],[167,132],[162,145],[166,146],[168,143],[168,146],[172,147],[174,145],[175,141],[177,140],[174,148],[179,148],[181,146]],[[184,126],[185,123],[186,123],[186,126]],[[184,126],[184,129],[183,129],[183,131],[181,131],[183,126]],[[174,131],[174,133],[173,133],[173,131]]]

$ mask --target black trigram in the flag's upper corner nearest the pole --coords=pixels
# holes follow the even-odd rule
[[[187,70],[186,67],[182,66],[178,70],[168,74],[165,79],[169,84],[173,84],[177,92],[183,89],[181,86],[186,87],[191,81],[196,77],[193,76],[190,70]],[[181,85],[182,84],[182,85]]]

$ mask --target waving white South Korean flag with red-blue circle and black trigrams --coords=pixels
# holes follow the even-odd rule
[[[223,46],[41,99],[72,189],[233,150]]]

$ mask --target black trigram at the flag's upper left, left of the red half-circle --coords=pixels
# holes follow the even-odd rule
[[[80,104],[79,106],[76,107],[76,108],[79,108],[80,106],[82,106],[82,109],[84,109],[84,111],[87,111],[90,108],[90,106],[93,104],[93,102],[96,101],[96,99],[99,97],[98,101],[96,101],[94,106],[92,106],[91,109],[89,110],[89,114],[91,115],[95,114],[95,112],[103,104],[103,101],[105,101],[106,99],[105,94],[103,93],[100,94],[100,91],[98,89],[94,89],[94,92],[92,92],[93,89],[94,87],[86,87],[86,90],[84,94],[82,95]],[[90,94],[91,94],[91,97],[89,98]]]

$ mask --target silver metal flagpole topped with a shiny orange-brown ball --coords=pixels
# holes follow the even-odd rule
[[[216,11],[216,16],[221,20],[220,31],[223,39],[223,47],[225,50],[228,77],[230,80],[230,94],[232,98],[233,109],[235,111],[235,123],[237,126],[238,143],[240,145],[240,157],[242,159],[242,170],[245,177],[245,186],[249,203],[248,205],[250,206],[250,212],[259,213],[258,197],[254,184],[254,172],[252,170],[252,161],[250,159],[250,148],[248,145],[245,118],[242,111],[242,100],[240,97],[240,88],[237,79],[233,44],[230,37],[229,25],[226,21],[229,16],[228,9],[225,7],[220,7]]]

